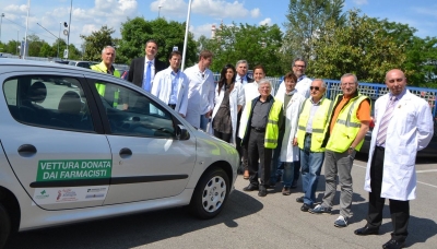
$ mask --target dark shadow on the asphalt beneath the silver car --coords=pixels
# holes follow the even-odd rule
[[[234,190],[222,213],[212,220],[197,220],[189,215],[185,208],[176,208],[23,232],[11,236],[5,249],[132,248],[182,236],[217,224],[237,228],[238,218],[257,213],[262,208],[262,203],[258,200]]]

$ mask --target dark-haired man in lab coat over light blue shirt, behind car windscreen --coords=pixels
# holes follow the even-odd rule
[[[188,78],[179,70],[182,56],[173,51],[170,67],[156,73],[151,93],[185,117],[188,105]]]

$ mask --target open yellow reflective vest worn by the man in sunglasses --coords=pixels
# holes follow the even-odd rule
[[[308,103],[307,103],[308,102]],[[311,104],[310,99],[305,100],[306,104]],[[304,150],[305,143],[305,133],[307,130],[307,123],[309,120],[309,115],[311,114],[312,105],[305,105],[300,111],[298,127],[297,127],[297,145],[300,150]],[[328,130],[328,119],[332,111],[333,102],[323,98],[320,103],[319,108],[317,109],[315,116],[312,117],[312,133],[311,133],[311,152],[323,152],[324,147],[321,147],[321,144],[324,139],[324,133]]]

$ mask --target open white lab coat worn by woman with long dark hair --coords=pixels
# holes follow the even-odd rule
[[[214,110],[212,111],[212,119],[211,119],[211,126],[214,121],[214,117],[218,111],[220,105],[222,105],[223,97],[225,96],[225,87],[222,87],[222,91],[220,91],[218,95],[218,84],[215,87],[215,106]],[[229,93],[229,107],[231,107],[231,122],[232,122],[232,128],[233,128],[233,135],[231,143],[235,145],[236,140],[235,140],[235,134],[237,133],[237,115],[238,115],[238,106],[245,106],[245,90],[243,87],[243,84],[239,82],[234,83],[234,88]],[[214,129],[212,127],[210,128],[210,133],[213,134]]]

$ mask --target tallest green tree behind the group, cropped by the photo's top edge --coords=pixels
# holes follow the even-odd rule
[[[312,40],[330,32],[332,24],[335,27],[345,22],[343,5],[344,0],[290,0],[282,51],[293,58],[310,59],[315,55]]]

